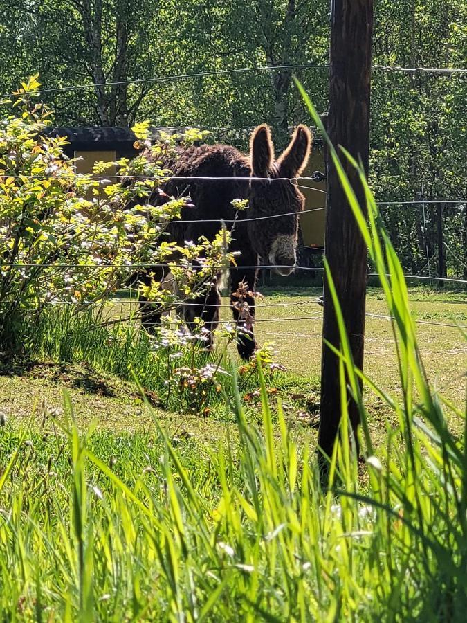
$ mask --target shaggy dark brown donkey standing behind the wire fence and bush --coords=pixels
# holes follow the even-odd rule
[[[221,219],[232,222],[236,217],[232,201],[248,199],[248,209],[237,213],[229,246],[229,251],[240,252],[237,266],[229,271],[230,306],[237,325],[238,352],[243,359],[249,359],[256,347],[255,299],[250,295],[255,292],[259,258],[274,265],[283,276],[295,267],[298,216],[304,208],[304,196],[293,178],[306,167],[311,143],[309,129],[299,125],[289,147],[276,160],[271,130],[267,125],[259,125],[250,137],[249,157],[230,145],[189,147],[172,166],[173,177],[163,188],[174,197],[188,193],[194,204],[182,208],[181,221],[170,226],[172,240],[180,245],[186,240],[196,242],[201,236],[213,239]],[[197,220],[208,222],[192,222]],[[235,296],[240,284],[243,300],[249,307],[248,319],[239,310]],[[150,330],[160,320],[161,309],[150,303],[142,305],[143,326]],[[189,327],[195,316],[203,318],[208,329],[208,345],[212,345],[212,332],[219,323],[220,305],[217,282],[212,283],[207,295],[183,305],[183,316]]]

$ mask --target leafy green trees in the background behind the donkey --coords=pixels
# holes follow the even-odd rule
[[[44,93],[57,125],[149,119],[212,129],[245,147],[239,131],[266,122],[281,147],[287,127],[307,120],[291,69],[118,83],[328,60],[329,3],[318,0],[0,0],[0,15],[2,90],[37,71],[44,89],[94,85]],[[466,3],[376,0],[374,63],[467,67]],[[295,73],[325,111],[327,70]],[[466,74],[374,71],[370,170],[378,199],[465,199],[466,148]],[[430,264],[432,273],[467,278],[465,204],[424,211],[392,204],[382,212],[406,271],[427,274]]]

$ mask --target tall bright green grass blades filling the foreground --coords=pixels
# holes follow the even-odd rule
[[[67,396],[39,428],[7,422],[3,620],[464,620],[465,437],[436,398],[399,413],[360,482],[344,426],[327,491],[266,386],[258,427],[230,408],[215,447],[157,417],[80,435]]]

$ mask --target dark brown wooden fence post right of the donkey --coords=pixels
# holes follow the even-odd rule
[[[332,0],[327,129],[334,147],[345,147],[356,159],[363,161],[366,171],[369,154],[372,26],[373,0]],[[340,159],[361,206],[365,207],[358,174],[342,153]],[[327,163],[325,245],[354,363],[363,369],[367,248],[331,158]],[[338,324],[327,280],[324,281],[323,340],[340,347]],[[331,456],[333,451],[340,414],[338,358],[323,341],[318,444],[327,456]],[[360,418],[353,401],[349,404],[349,415],[351,426],[356,431]],[[320,460],[324,476],[327,473],[326,464],[326,461]]]

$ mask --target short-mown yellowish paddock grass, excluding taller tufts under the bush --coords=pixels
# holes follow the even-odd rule
[[[265,299],[259,302],[257,309],[257,338],[259,343],[274,343],[275,361],[287,369],[280,374],[284,409],[291,421],[303,424],[300,429],[306,431],[310,423],[316,422],[319,403],[322,307],[315,298],[321,291],[284,286],[282,291],[266,288],[264,294]],[[467,344],[461,330],[443,325],[467,325],[467,292],[412,287],[409,296],[415,318],[424,323],[441,323],[417,325],[419,346],[430,381],[460,407],[466,391]],[[223,304],[227,305],[228,300],[224,299]],[[222,311],[223,319],[230,319],[230,310],[223,307]],[[392,326],[387,318],[376,317],[387,316],[381,289],[369,287],[367,312],[374,315],[367,317],[365,372],[383,390],[398,394],[399,373]],[[231,356],[236,359],[234,347]],[[134,383],[109,374],[102,365],[96,370],[86,362],[37,361],[22,369],[3,370],[0,409],[12,422],[24,421],[34,410],[37,413],[43,402],[49,408],[61,408],[62,390],[66,388],[79,421],[84,425],[95,422],[100,428],[111,431],[134,431],[151,426]],[[368,399],[372,414],[370,425],[378,442],[385,432],[389,414],[381,401],[374,397]],[[247,406],[253,408],[258,404],[259,399],[253,397]],[[170,412],[161,408],[157,401],[153,407],[172,431],[186,431],[212,442],[224,436],[224,428],[219,425],[224,410],[219,415],[214,408],[210,417],[196,417]]]

